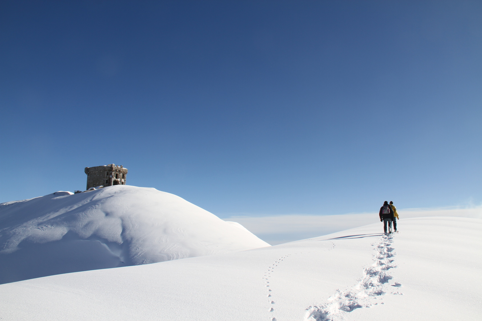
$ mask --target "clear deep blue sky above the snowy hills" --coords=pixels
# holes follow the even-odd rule
[[[0,2],[0,201],[127,184],[221,217],[482,202],[482,1]]]

